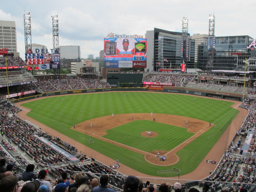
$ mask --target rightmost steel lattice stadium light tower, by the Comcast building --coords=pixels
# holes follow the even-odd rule
[[[209,15],[209,35],[208,35],[208,56],[206,68],[213,68],[215,54],[215,16],[214,13]]]

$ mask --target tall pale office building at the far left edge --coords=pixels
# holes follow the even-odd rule
[[[16,24],[14,21],[0,20],[0,49],[17,52]]]

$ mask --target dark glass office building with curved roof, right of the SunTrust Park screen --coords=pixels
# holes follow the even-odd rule
[[[154,28],[154,30],[147,31],[145,37],[147,38],[147,68],[145,70],[150,72],[159,69],[180,70],[182,63],[181,32]],[[195,40],[188,38],[186,67],[194,68],[194,62]]]

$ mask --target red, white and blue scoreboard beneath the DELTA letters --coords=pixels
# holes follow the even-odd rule
[[[28,53],[26,62],[28,70],[59,69],[60,54]]]

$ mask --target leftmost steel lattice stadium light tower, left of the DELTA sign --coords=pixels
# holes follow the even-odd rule
[[[32,53],[30,12],[24,14],[25,54]]]

